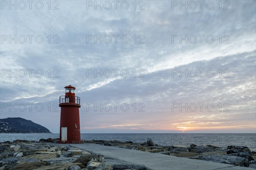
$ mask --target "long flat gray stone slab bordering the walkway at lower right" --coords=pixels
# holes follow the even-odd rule
[[[214,155],[214,156],[204,155],[204,156],[199,156],[198,159],[204,160],[204,161],[218,162],[223,164],[233,164],[240,167],[243,167],[244,162],[246,161],[245,158],[242,158],[240,156],[229,156],[229,155]]]

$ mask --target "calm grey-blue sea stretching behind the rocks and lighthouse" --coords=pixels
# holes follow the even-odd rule
[[[59,133],[0,133],[0,142],[16,139],[34,140],[59,138]],[[160,146],[190,146],[211,144],[221,148],[228,145],[247,146],[256,151],[256,133],[81,133],[83,140],[117,140],[143,143],[151,138]]]

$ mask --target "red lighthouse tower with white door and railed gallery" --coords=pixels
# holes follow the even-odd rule
[[[65,96],[60,96],[61,125],[60,140],[57,143],[83,143],[80,137],[80,97],[75,96],[72,85],[65,87]]]

